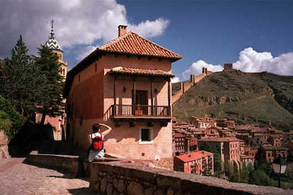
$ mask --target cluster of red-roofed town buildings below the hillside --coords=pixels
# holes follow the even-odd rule
[[[287,158],[293,150],[293,131],[283,132],[254,124],[235,125],[227,119],[190,117],[189,122],[178,122],[173,118],[173,137],[174,167],[195,174],[202,174],[193,170],[195,162],[200,163],[195,153],[205,143],[217,150],[222,160],[221,170],[228,176],[253,164],[256,158],[272,162],[279,155]]]

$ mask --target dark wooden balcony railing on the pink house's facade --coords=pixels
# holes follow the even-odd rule
[[[115,118],[171,118],[169,106],[151,105],[112,105]]]

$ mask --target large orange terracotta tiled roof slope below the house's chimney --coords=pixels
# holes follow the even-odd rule
[[[156,45],[154,42],[146,40],[134,32],[127,32],[125,35],[98,47],[97,50],[115,54],[159,57],[171,59],[172,61],[182,58],[179,54],[171,52],[160,45]]]

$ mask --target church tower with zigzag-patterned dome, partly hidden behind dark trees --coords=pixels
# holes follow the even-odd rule
[[[59,74],[63,76],[64,81],[66,80],[67,76],[67,61],[63,61],[63,50],[62,47],[58,44],[56,37],[54,36],[54,20],[51,20],[51,32],[49,39],[45,43],[47,47],[52,49],[52,52],[54,54],[57,54],[58,56],[58,62],[60,64],[60,71]],[[63,102],[65,103],[66,100],[64,99]],[[66,124],[66,113],[65,108],[62,107],[62,114],[57,117],[49,117],[46,116],[45,118],[45,124],[51,124],[53,126],[53,136],[54,140],[62,140],[66,138],[66,133],[64,131],[65,124]],[[37,113],[36,114],[36,122],[40,122],[40,119],[42,118],[42,114]]]

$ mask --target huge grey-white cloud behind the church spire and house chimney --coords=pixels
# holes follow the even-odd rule
[[[144,37],[161,35],[169,21],[157,18],[139,24],[129,23],[125,6],[115,0],[2,0],[0,6],[0,58],[10,56],[19,35],[23,35],[30,52],[45,44],[50,35],[50,20],[59,45],[71,48],[91,47],[94,42],[108,42],[117,37],[117,26]]]

